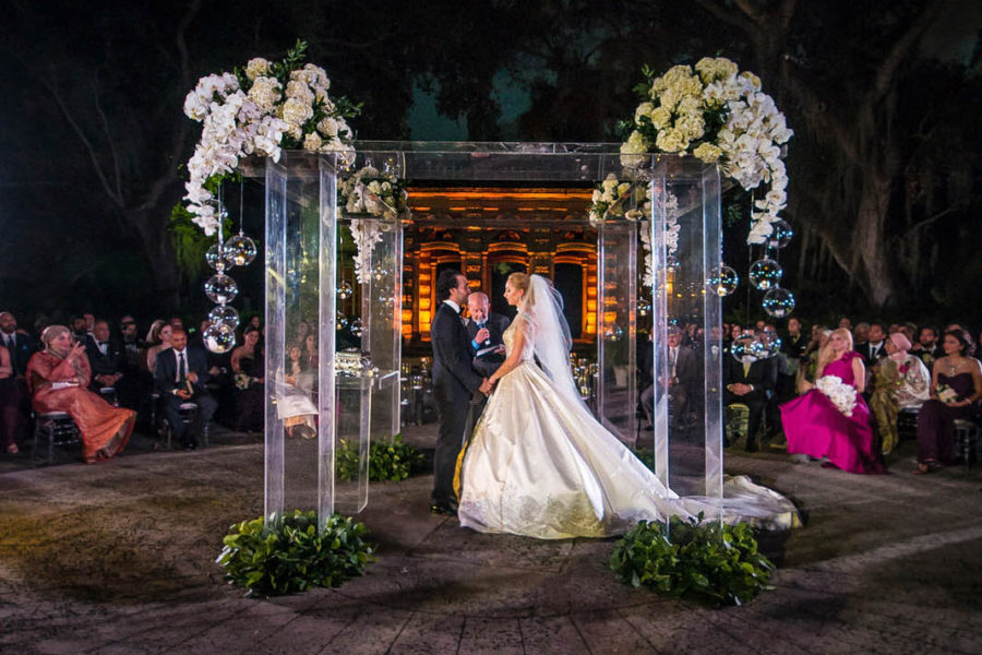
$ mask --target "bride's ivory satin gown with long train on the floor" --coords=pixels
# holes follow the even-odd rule
[[[504,333],[510,352],[523,324],[519,313]],[[530,348],[488,401],[458,457],[455,487],[462,525],[541,539],[616,535],[639,520],[714,515],[720,505],[730,513],[724,500],[680,498],[666,488],[536,366]],[[730,501],[731,517],[767,522],[794,513],[787,499],[749,480],[734,489],[741,499]]]

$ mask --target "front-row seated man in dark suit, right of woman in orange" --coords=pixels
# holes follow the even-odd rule
[[[208,365],[204,353],[188,348],[188,334],[183,330],[173,330],[170,347],[157,354],[154,389],[160,394],[164,416],[170,421],[173,436],[190,450],[197,448],[195,433],[207,427],[218,406],[205,388],[207,381]],[[190,434],[180,415],[181,403],[188,402],[197,404],[197,426]]]

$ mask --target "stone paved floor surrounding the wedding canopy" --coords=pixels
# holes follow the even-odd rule
[[[914,476],[909,443],[888,476],[728,455],[807,523],[762,540],[781,567],[774,591],[710,610],[616,582],[612,539],[433,516],[429,476],[372,486],[366,576],[246,599],[214,559],[230,523],[262,513],[262,444],[216,441],[155,453],[137,440],[95,466],[0,463],[0,653],[982,652],[982,472]]]

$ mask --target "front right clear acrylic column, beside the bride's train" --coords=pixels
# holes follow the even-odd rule
[[[657,156],[654,174],[656,474],[681,496],[721,498],[721,305],[712,283],[720,266],[719,170],[694,157]],[[691,343],[676,333],[686,325],[695,325]],[[674,377],[673,332],[682,350]]]

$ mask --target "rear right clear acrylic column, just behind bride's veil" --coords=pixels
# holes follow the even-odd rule
[[[632,446],[637,440],[637,226],[608,217],[597,239],[597,416]]]

